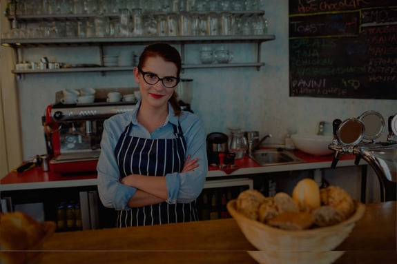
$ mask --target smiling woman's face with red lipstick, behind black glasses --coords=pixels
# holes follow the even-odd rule
[[[153,77],[153,74],[155,74],[160,79],[164,77],[177,77],[177,66],[170,61],[164,61],[162,57],[148,57],[141,70],[148,72],[148,76]],[[135,82],[139,83],[143,105],[148,104],[155,108],[168,105],[168,99],[173,95],[176,86],[174,88],[166,88],[162,81],[158,81],[153,85],[148,84],[137,67],[134,69],[134,79]]]

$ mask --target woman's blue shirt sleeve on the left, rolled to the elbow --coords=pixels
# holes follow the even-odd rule
[[[129,210],[128,200],[136,188],[120,183],[119,168],[114,154],[119,139],[120,128],[116,122],[106,120],[101,139],[101,154],[97,165],[97,187],[101,203],[116,210]]]

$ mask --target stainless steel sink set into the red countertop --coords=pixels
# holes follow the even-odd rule
[[[262,166],[304,162],[294,154],[284,150],[255,150],[249,157]]]

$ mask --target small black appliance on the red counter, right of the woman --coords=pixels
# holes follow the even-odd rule
[[[228,136],[221,132],[212,132],[206,136],[206,152],[209,165],[220,165],[219,154],[228,153]]]

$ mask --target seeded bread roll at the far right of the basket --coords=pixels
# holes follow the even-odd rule
[[[320,190],[320,196],[323,205],[329,205],[339,210],[345,216],[345,219],[353,214],[354,201],[341,187],[328,186]]]

